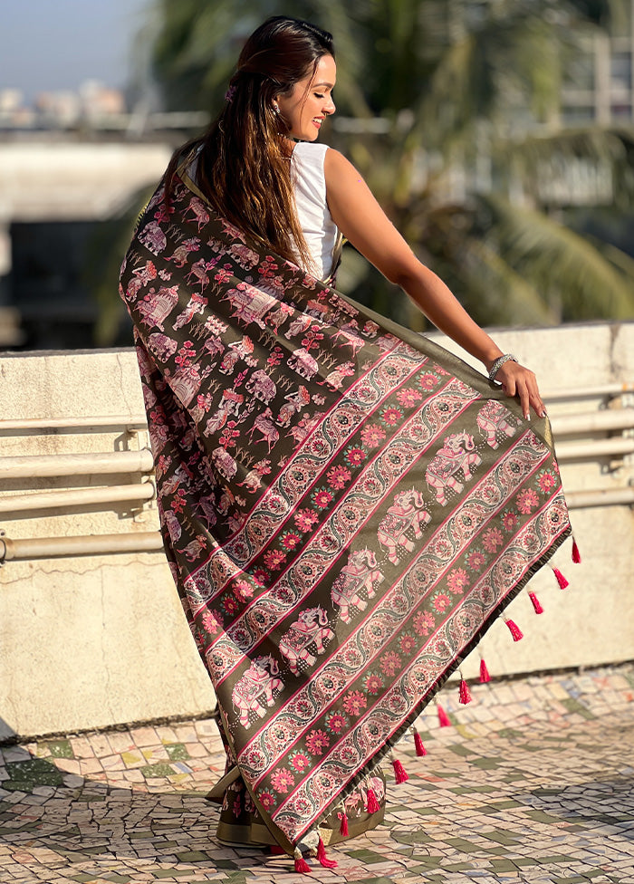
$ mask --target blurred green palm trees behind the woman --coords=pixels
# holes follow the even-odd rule
[[[617,194],[621,209],[631,207],[631,133],[557,124],[580,35],[624,8],[620,0],[295,0],[294,15],[335,35],[340,120],[326,140],[351,157],[478,322],[634,316],[634,260],[561,222],[583,163],[610,180],[591,201]],[[213,114],[245,36],[287,9],[281,0],[156,0],[153,64],[166,107]],[[353,251],[341,281],[364,303],[424,326]]]

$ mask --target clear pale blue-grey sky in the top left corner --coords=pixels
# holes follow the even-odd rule
[[[178,0],[175,0],[178,2]],[[151,0],[0,0],[0,89],[125,86]]]

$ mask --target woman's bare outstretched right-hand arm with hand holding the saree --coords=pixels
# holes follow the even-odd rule
[[[370,187],[351,162],[329,149],[324,163],[328,207],[332,220],[351,244],[390,282],[399,285],[422,312],[490,370],[502,351],[466,312],[439,277],[421,264],[383,212]],[[519,396],[524,417],[530,407],[545,414],[533,371],[504,362],[497,371],[509,396]]]

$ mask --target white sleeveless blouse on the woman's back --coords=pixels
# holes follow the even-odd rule
[[[297,217],[312,255],[312,267],[306,269],[317,279],[326,279],[331,274],[339,235],[326,202],[323,162],[327,150],[326,144],[299,141],[291,159]]]

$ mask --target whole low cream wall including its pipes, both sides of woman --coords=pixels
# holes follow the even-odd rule
[[[525,639],[494,626],[487,665],[495,676],[634,658],[634,323],[495,340],[556,380],[542,386],[582,563],[564,544],[555,564],[570,588],[539,572],[544,615],[522,593]],[[0,738],[205,713],[213,692],[159,549],[134,352],[6,355],[0,371]],[[467,659],[463,672],[476,668]]]

